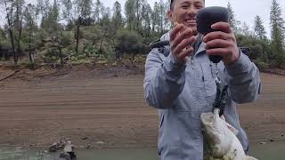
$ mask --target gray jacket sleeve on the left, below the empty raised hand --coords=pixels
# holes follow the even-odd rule
[[[171,53],[159,56],[159,50],[153,49],[145,63],[143,80],[144,98],[151,107],[170,108],[183,91],[185,84],[185,65],[175,61]]]

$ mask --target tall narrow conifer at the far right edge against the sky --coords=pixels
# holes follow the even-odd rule
[[[281,68],[285,63],[284,43],[284,20],[281,16],[281,7],[276,0],[273,0],[270,12],[270,25],[272,28],[271,56],[273,67]]]

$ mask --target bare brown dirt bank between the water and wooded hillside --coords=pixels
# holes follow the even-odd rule
[[[47,146],[68,137],[77,146],[156,145],[158,116],[143,100],[142,74],[110,72],[22,70],[0,82],[0,144]],[[284,140],[285,76],[262,80],[260,99],[238,108],[241,124],[250,140]]]

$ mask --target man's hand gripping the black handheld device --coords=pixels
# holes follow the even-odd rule
[[[209,55],[222,56],[226,65],[234,63],[240,57],[240,50],[230,24],[217,22],[211,27],[220,31],[210,32],[203,37],[203,42],[206,43],[206,52]]]

